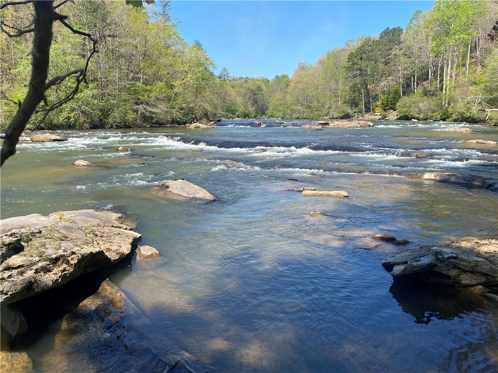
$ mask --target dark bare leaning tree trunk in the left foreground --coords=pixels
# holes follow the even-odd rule
[[[0,151],[0,166],[7,158],[15,154],[15,146],[19,136],[26,128],[38,104],[45,94],[50,45],[52,43],[52,24],[56,13],[53,1],[34,1],[34,39],[31,50],[31,77],[29,89],[24,100],[19,105],[12,121],[5,130],[5,137]]]

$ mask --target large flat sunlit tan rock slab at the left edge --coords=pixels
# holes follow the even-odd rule
[[[1,305],[122,260],[141,237],[122,221],[121,214],[95,210],[1,220]]]

